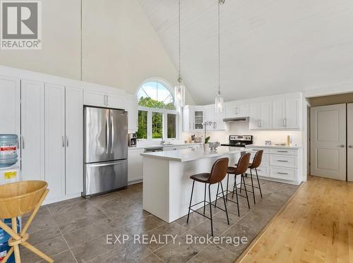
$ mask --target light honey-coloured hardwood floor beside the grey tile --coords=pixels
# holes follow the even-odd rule
[[[237,262],[353,262],[353,183],[310,176]]]

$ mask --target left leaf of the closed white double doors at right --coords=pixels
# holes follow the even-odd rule
[[[311,175],[346,180],[346,104],[311,108]]]

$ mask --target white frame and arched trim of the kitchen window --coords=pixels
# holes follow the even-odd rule
[[[170,94],[174,97],[174,90],[172,90],[172,85],[167,82],[167,80],[163,80],[162,78],[148,78],[147,80],[144,80],[141,85],[138,87],[138,90],[136,91],[136,96],[138,94],[138,91],[140,88],[146,83],[146,82],[160,82],[164,87],[167,87],[169,90]],[[181,138],[181,109],[160,109],[160,108],[150,108],[150,107],[145,107],[145,106],[138,106],[138,111],[147,111],[147,139],[138,139],[139,141],[162,141],[162,140],[168,140],[168,141],[173,141],[173,140],[180,140]],[[162,130],[163,130],[163,137],[160,139],[153,139],[152,138],[152,112],[160,112],[163,114],[162,116]],[[176,137],[175,138],[167,138],[167,114],[175,114],[177,115],[177,127],[176,127]]]

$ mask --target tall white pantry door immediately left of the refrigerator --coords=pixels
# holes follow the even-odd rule
[[[65,91],[65,193],[74,195],[83,192],[83,90],[66,87]]]

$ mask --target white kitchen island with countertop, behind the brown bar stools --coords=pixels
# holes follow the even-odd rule
[[[193,180],[196,173],[210,173],[217,159],[229,158],[229,165],[237,163],[245,148],[218,147],[217,152],[200,149],[179,149],[168,152],[142,153],[143,209],[170,223],[188,214]],[[240,179],[239,179],[240,180]],[[222,181],[226,188],[227,176]],[[232,190],[234,176],[229,176]],[[204,199],[205,184],[195,183],[193,204]],[[211,185],[211,200],[216,197],[217,184]],[[208,197],[208,193],[206,194]],[[203,207],[199,204],[198,209]]]

